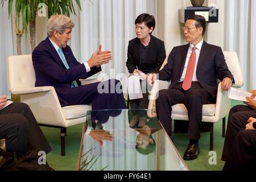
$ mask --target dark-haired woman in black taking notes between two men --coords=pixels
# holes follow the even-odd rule
[[[166,49],[164,42],[155,38],[152,34],[155,28],[155,18],[149,14],[141,14],[135,20],[135,33],[137,38],[130,40],[127,53],[126,67],[129,73],[139,76],[142,80],[143,98],[130,100],[131,109],[147,109],[148,93],[146,77],[148,73],[158,73],[160,67],[166,59]],[[145,75],[144,75],[145,74]],[[144,126],[146,122],[146,111],[133,111],[133,119],[130,126],[133,127],[138,120],[139,126]]]

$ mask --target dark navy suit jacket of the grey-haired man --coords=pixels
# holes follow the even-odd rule
[[[84,64],[76,60],[69,46],[63,48],[63,53],[70,67],[69,69],[65,68],[49,38],[39,43],[32,52],[36,77],[35,86],[53,86],[61,106],[69,105],[68,98],[72,92],[71,82],[73,80],[81,85],[80,78],[85,79],[101,71],[101,67],[94,67],[87,73]]]

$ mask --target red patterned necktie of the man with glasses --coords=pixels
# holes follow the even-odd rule
[[[188,61],[188,67],[186,71],[186,75],[182,84],[182,88],[184,90],[188,90],[191,88],[192,84],[192,78],[195,70],[195,65],[196,65],[196,47],[192,48],[192,53]]]

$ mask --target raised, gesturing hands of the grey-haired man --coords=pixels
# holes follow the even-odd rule
[[[92,54],[92,57],[87,61],[90,68],[100,67],[102,64],[109,63],[113,56],[111,51],[101,51],[101,45],[97,51]]]

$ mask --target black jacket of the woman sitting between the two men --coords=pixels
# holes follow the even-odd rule
[[[147,57],[145,63],[141,64],[139,50],[141,42],[138,38],[129,41],[126,67],[129,73],[133,73],[134,69],[139,69],[143,73],[158,73],[164,59],[166,59],[166,49],[164,42],[150,35],[150,43],[148,45]]]

